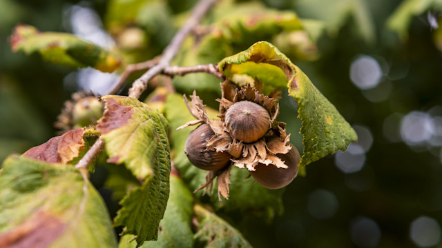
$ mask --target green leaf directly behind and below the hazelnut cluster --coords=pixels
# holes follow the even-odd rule
[[[215,112],[209,107],[206,107],[206,109],[208,113]],[[184,154],[184,144],[186,143],[187,136],[196,126],[186,127],[182,130],[176,130],[176,128],[195,120],[195,117],[187,110],[180,94],[171,94],[167,97],[164,114],[172,130],[172,148],[175,150],[174,165],[178,168],[182,178],[184,178],[191,190],[194,191],[206,183],[206,171],[193,166],[186,154]],[[215,116],[209,117],[214,118]],[[249,176],[249,172],[246,169],[233,168],[231,170],[230,180],[232,184],[230,187],[230,197],[229,200],[224,200],[222,204],[219,203],[216,180],[214,180],[213,192],[210,194],[213,205],[217,209],[224,208],[228,211],[260,209],[268,212],[270,216],[273,216],[275,213],[280,214],[282,211],[282,190],[265,189],[258,183],[253,183],[252,178],[246,179],[247,176]],[[203,190],[196,192],[197,196],[201,196],[202,192]]]

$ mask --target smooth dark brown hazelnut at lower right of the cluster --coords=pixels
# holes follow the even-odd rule
[[[290,144],[291,145],[291,144]],[[278,158],[285,161],[288,168],[278,168],[274,165],[265,165],[259,163],[255,167],[255,171],[250,172],[251,176],[267,189],[280,189],[291,183],[298,174],[298,164],[300,156],[298,149],[291,145],[291,149],[287,154],[277,154]]]

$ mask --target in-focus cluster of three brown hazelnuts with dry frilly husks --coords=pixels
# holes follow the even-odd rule
[[[260,185],[269,189],[285,187],[298,174],[299,152],[289,143],[285,123],[276,121],[280,91],[262,94],[262,83],[238,87],[229,79],[221,83],[219,120],[207,116],[205,106],[193,92],[184,102],[196,118],[178,129],[198,125],[189,134],[184,152],[189,161],[207,170],[206,183],[199,189],[211,190],[217,178],[218,196],[229,198],[231,166],[247,168]],[[199,190],[198,189],[198,190]]]

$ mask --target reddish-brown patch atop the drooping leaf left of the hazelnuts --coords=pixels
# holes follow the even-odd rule
[[[132,107],[120,105],[117,99],[106,99],[103,117],[97,121],[97,130],[107,134],[112,130],[126,125],[133,114]]]

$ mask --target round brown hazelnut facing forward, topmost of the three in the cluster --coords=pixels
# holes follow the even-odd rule
[[[244,143],[258,141],[271,127],[269,112],[252,101],[233,103],[226,112],[225,123],[231,136]]]

